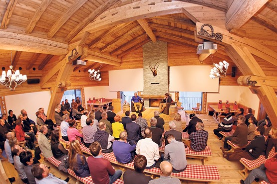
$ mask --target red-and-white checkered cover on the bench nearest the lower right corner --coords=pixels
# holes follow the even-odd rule
[[[269,153],[269,159],[273,158],[276,155],[275,153],[275,148],[270,151]],[[261,155],[258,159],[256,160],[248,160],[246,158],[241,158],[240,162],[247,167],[249,170],[253,170],[257,168],[258,166],[264,164],[267,161],[264,155]]]

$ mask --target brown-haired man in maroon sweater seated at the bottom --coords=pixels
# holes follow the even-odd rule
[[[99,124],[104,124],[103,122]],[[110,161],[103,158],[100,143],[95,141],[89,147],[90,153],[87,159],[89,171],[94,184],[113,184],[122,175],[121,170],[115,170]]]

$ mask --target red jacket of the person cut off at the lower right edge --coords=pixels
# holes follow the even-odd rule
[[[277,184],[277,155],[265,163],[266,175],[271,184]]]

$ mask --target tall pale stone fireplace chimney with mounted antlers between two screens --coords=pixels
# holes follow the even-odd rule
[[[141,97],[144,99],[145,107],[159,106],[164,94],[169,92],[167,42],[148,42],[142,49],[144,86]],[[154,77],[149,65],[154,67],[156,63],[157,76]]]

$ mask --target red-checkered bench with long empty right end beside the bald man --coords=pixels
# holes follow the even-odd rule
[[[103,158],[109,160],[111,163],[116,164],[123,168],[134,170],[134,163],[122,164],[117,162],[113,152],[102,153]],[[160,176],[159,168],[152,168],[144,170],[144,173],[152,176]],[[188,164],[187,169],[180,173],[172,173],[172,177],[176,177],[180,180],[197,181],[197,182],[216,182],[220,180],[220,175],[217,166],[202,166]]]

